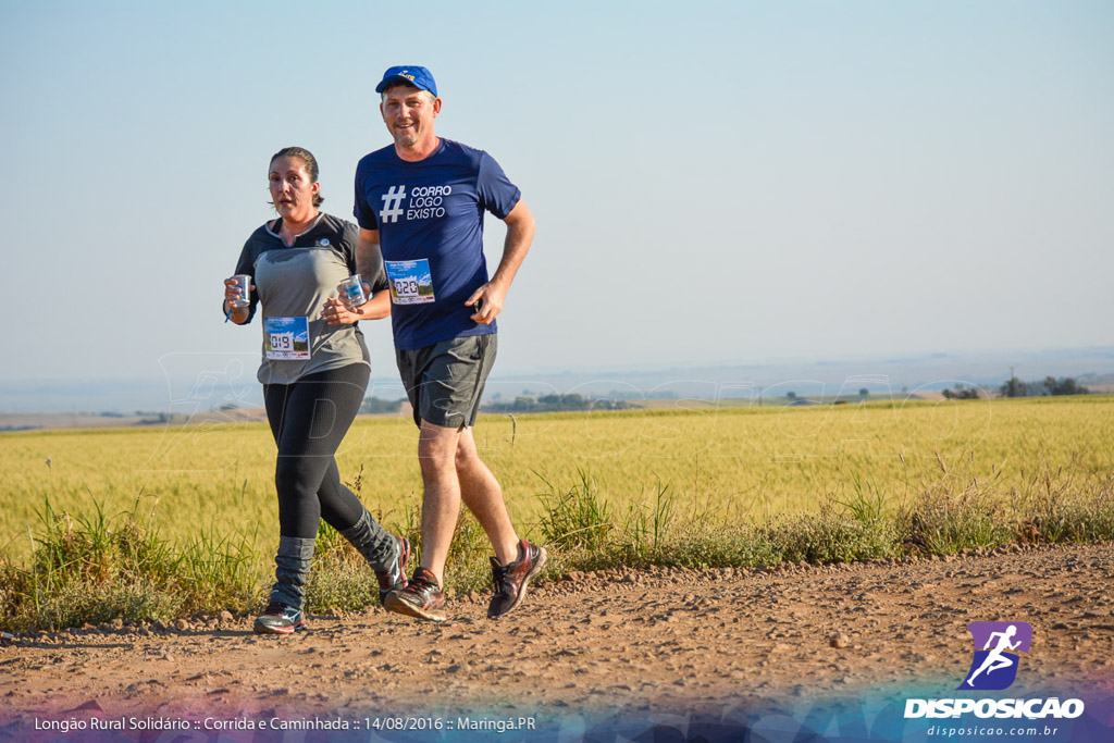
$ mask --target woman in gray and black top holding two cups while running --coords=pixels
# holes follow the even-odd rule
[[[371,362],[356,317],[335,299],[340,282],[355,273],[355,225],[324,214],[317,162],[301,147],[271,158],[271,199],[278,217],[247,238],[237,275],[251,275],[248,303],[235,276],[225,280],[225,316],[237,325],[261,307],[263,383],[267,421],[278,447],[278,550],[275,584],[255,632],[290,634],[306,628],[303,605],[317,525],[323,518],[360,551],[375,573],[380,600],[407,586],[407,539],[388,534],[360,499],[341,483],[334,454],[363,401]],[[380,260],[381,261],[381,260]],[[381,264],[365,275],[385,289]],[[360,307],[360,319],[390,314],[383,291]]]

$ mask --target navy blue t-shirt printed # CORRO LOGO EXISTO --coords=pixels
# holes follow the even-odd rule
[[[472,322],[465,301],[488,281],[483,213],[502,219],[520,197],[495,158],[451,139],[418,163],[394,145],[360,160],[352,213],[379,231],[397,349],[496,332]]]

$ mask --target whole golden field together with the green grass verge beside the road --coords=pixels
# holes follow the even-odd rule
[[[481,452],[520,531],[550,549],[549,575],[1114,535],[1114,398],[684,404],[520,416],[514,439],[508,419],[481,418]],[[418,546],[416,446],[408,420],[358,421],[338,459],[368,508]],[[0,627],[257,610],[277,541],[273,467],[262,426],[0,434]],[[463,517],[448,587],[487,587],[489,554]],[[377,592],[323,527],[309,608],[359,608]]]

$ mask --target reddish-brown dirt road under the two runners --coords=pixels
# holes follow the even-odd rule
[[[486,618],[481,595],[450,602],[440,624],[375,608],[313,617],[311,632],[291,637],[253,635],[250,618],[55,633],[0,647],[0,739],[49,740],[65,731],[45,726],[63,720],[135,717],[125,725],[133,739],[156,740],[150,725],[166,724],[143,730],[144,720],[211,718],[228,740],[263,740],[234,726],[316,718],[317,731],[356,721],[353,740],[377,740],[397,714],[431,727],[448,721],[458,733],[460,715],[486,725],[521,716],[569,737],[569,720],[590,729],[604,718],[791,714],[809,700],[954,696],[975,620],[1033,626],[1009,694],[1089,695],[1103,718],[1094,704],[1114,698],[1112,578],[1108,546],[1015,548],[770,571],[573,575],[531,589],[498,622]],[[218,734],[208,729],[194,731]],[[515,730],[491,734],[514,740]],[[412,734],[405,740],[423,740]]]

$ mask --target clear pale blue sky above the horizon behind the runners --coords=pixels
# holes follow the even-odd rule
[[[395,63],[433,71],[439,134],[538,219],[497,372],[1114,344],[1108,2],[0,0],[0,382],[254,351],[219,302],[272,214],[267,159],[313,150],[351,218]],[[392,374],[387,323],[364,331]]]

